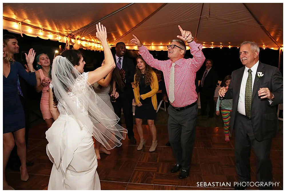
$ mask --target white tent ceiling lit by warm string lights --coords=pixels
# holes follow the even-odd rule
[[[3,29],[13,33],[102,50],[95,24],[104,24],[108,43],[135,34],[149,50],[166,50],[191,31],[204,47],[237,47],[254,41],[261,48],[283,47],[283,3],[3,3]],[[188,49],[188,48],[187,48]]]

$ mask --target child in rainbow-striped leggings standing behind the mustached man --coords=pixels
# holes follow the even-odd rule
[[[223,80],[222,86],[229,86],[229,83],[231,82],[231,75],[228,75]],[[229,120],[231,118],[231,111],[232,111],[232,99],[228,100],[219,100],[217,99],[217,110],[216,114],[219,115],[219,106],[221,106],[221,116],[223,117],[223,123],[224,123],[224,132],[225,132],[225,141],[229,142]]]

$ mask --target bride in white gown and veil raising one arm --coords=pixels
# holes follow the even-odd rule
[[[53,162],[48,190],[100,190],[92,137],[112,149],[122,145],[127,133],[91,87],[115,68],[106,28],[99,23],[96,29],[104,48],[104,66],[84,73],[78,50],[66,50],[53,61],[49,109],[55,122],[46,131],[47,155]]]

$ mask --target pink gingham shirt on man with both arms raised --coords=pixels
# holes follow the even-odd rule
[[[188,45],[190,46],[193,58],[181,58],[175,62],[175,101],[171,103],[173,107],[185,107],[196,102],[198,99],[195,86],[196,72],[200,69],[206,58],[202,53],[202,44],[196,44],[196,42],[193,41],[188,43]],[[138,50],[139,54],[149,66],[163,72],[166,90],[169,96],[172,60],[161,61],[154,59],[145,46],[139,47]]]

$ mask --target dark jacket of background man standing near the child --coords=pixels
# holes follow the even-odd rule
[[[204,76],[204,74],[202,75]],[[200,79],[202,80],[202,78]],[[217,88],[217,72],[214,68],[211,68],[206,78],[204,79],[204,86],[202,87],[202,81],[200,81],[200,85],[198,86],[198,90],[200,95],[204,94],[206,96],[214,96],[215,89]]]

